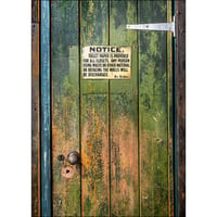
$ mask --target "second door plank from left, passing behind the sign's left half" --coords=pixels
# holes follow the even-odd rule
[[[80,51],[107,44],[107,0],[80,1]],[[110,215],[108,81],[80,78],[81,215]]]

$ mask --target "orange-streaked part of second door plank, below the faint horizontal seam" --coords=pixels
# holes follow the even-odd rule
[[[102,103],[97,103],[97,102]],[[106,95],[82,97],[82,213],[84,216],[107,215],[107,120]],[[102,194],[103,192],[103,194]]]

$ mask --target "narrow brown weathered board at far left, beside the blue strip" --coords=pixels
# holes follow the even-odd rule
[[[39,25],[31,24],[31,216],[40,216]]]

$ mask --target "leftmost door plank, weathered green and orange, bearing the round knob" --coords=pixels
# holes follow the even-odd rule
[[[80,216],[78,1],[52,1],[53,215]],[[61,155],[64,161],[61,161]]]

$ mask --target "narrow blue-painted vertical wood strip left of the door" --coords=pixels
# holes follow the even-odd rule
[[[40,177],[41,215],[51,216],[51,100],[50,100],[50,2],[41,1],[40,25]]]

